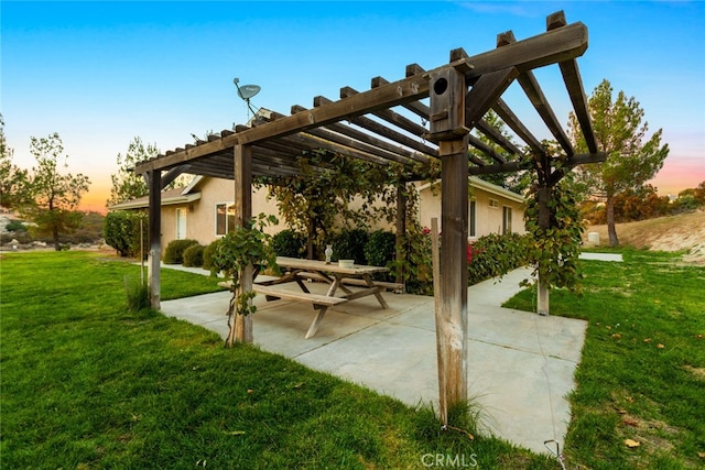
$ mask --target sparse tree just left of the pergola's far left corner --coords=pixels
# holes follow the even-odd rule
[[[110,198],[107,206],[124,203],[148,194],[149,188],[141,175],[135,175],[131,170],[138,162],[156,157],[159,150],[154,144],[142,143],[142,139],[135,136],[128,145],[124,154],[118,154],[118,173],[110,175],[112,188],[110,189]]]

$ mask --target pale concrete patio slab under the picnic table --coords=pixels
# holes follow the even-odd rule
[[[501,282],[468,288],[468,394],[480,405],[485,433],[546,452],[545,440],[564,442],[571,418],[566,396],[574,387],[586,323],[500,307],[528,275],[528,270],[517,270]],[[312,292],[317,287],[325,288],[312,283]],[[268,303],[258,296],[254,342],[408,405],[432,403],[437,409],[433,298],[384,296],[389,309],[381,309],[375,297],[329,308],[307,340],[315,316],[310,304]],[[229,298],[229,292],[220,292],[165,300],[162,311],[225,338]]]

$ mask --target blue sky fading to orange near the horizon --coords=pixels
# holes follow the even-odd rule
[[[393,1],[393,2],[12,2],[2,1],[1,102],[15,163],[31,167],[30,136],[58,132],[68,171],[93,182],[84,207],[102,209],[118,153],[134,136],[162,151],[192,133],[243,123],[248,110],[232,78],[262,90],[252,102],[289,113],[370,78],[403,78],[464,47],[495,47],[545,31],[564,10],[589,31],[578,59],[586,94],[604,79],[640,101],[651,131],[671,147],[654,184],[663,192],[705,179],[705,2],[702,1]],[[567,121],[557,67],[538,78]],[[508,101],[540,136],[528,100]],[[511,98],[511,99],[510,99]]]

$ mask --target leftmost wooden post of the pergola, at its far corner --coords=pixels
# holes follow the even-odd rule
[[[160,261],[162,258],[162,172],[154,170],[149,172],[149,197],[150,197],[150,252],[148,256],[147,271],[150,284],[150,306],[160,308],[161,299],[161,271]]]

